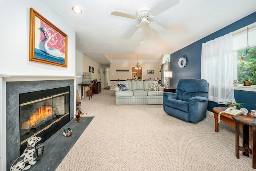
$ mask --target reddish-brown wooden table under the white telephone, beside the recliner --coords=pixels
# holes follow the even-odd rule
[[[219,123],[218,123],[218,114],[221,111],[226,110],[227,107],[214,107],[212,110],[214,111],[214,119],[215,119],[215,132],[219,131]],[[220,120],[226,122],[228,125],[235,127],[236,121],[232,118],[232,115],[222,113],[220,115]],[[240,125],[240,129],[242,129],[242,125]]]

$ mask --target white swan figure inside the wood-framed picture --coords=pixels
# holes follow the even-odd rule
[[[58,50],[56,48],[48,47],[47,44],[51,40],[51,37],[50,37],[50,34],[48,33],[48,31],[46,30],[46,28],[40,27],[39,29],[41,32],[44,33],[44,40],[42,40],[44,52],[46,52],[46,54],[51,55],[51,56],[63,57],[64,54],[62,52],[60,52],[60,50]]]

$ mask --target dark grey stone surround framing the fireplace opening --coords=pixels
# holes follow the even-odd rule
[[[6,82],[6,161],[7,169],[20,156],[19,94],[70,87],[70,120],[74,118],[74,80]]]

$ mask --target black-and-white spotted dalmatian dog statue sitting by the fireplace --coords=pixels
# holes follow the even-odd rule
[[[36,164],[36,161],[34,161],[36,158],[34,158],[33,155],[36,150],[36,143],[41,141],[41,139],[41,137],[32,137],[28,140],[26,149],[22,155],[12,163],[10,171],[26,171],[30,169],[31,165]],[[26,163],[29,165],[25,167]]]

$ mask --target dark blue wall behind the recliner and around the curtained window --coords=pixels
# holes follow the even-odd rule
[[[256,12],[171,54],[170,71],[172,71],[173,78],[170,79],[170,86],[176,87],[178,81],[183,78],[201,78],[201,50],[203,43],[214,40],[215,38],[230,32],[234,32],[254,22],[256,22]],[[178,61],[181,57],[186,58],[187,61],[187,65],[184,68],[178,66]],[[256,92],[234,90],[234,93],[236,102],[245,103],[243,106],[249,111],[251,109],[256,109]],[[207,110],[213,112],[212,108],[215,106],[220,105],[213,101],[209,101]]]

